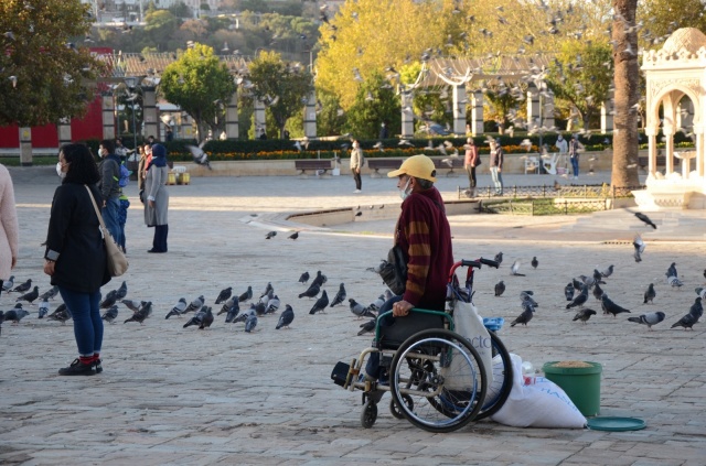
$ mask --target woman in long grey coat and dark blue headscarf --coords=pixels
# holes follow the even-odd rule
[[[169,225],[169,191],[167,191],[167,148],[152,145],[152,160],[147,165],[145,175],[145,224],[154,227],[152,249],[147,252],[167,252],[167,235]]]

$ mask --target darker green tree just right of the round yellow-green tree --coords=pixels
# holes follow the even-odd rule
[[[301,66],[289,66],[276,52],[260,52],[250,63],[249,80],[253,97],[268,107],[282,138],[287,120],[302,110],[313,91],[311,74]]]

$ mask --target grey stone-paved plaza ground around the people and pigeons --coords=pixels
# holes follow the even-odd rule
[[[43,242],[52,193],[53,167],[11,169],[15,182],[21,248],[15,282],[29,278],[49,288],[42,274]],[[608,174],[597,174],[607,181]],[[439,181],[445,198],[454,199],[464,177]],[[544,175],[507,176],[507,184],[546,184]],[[480,185],[488,185],[482,175]],[[566,182],[566,181],[563,181]],[[147,254],[152,231],[142,225],[135,184],[127,238],[130,270],[128,299],[153,302],[145,325],[122,324],[131,313],[120,307],[119,323],[106,325],[105,371],[89,378],[62,378],[60,367],[75,357],[72,326],[36,318],[6,323],[0,336],[0,464],[24,465],[192,465],[192,464],[405,464],[405,465],[687,465],[705,464],[706,359],[704,329],[670,329],[684,315],[704,283],[706,245],[700,215],[685,215],[680,235],[648,231],[631,214],[576,217],[450,217],[457,259],[504,252],[500,270],[477,275],[475,304],[484,316],[520,314],[518,293],[533,290],[539,306],[526,327],[500,332],[505,345],[541,367],[548,360],[579,359],[603,365],[601,414],[638,416],[648,427],[608,433],[588,430],[513,429],[483,421],[449,434],[430,434],[394,419],[383,399],[372,430],[360,425],[361,397],[334,386],[330,372],[367,345],[357,337],[361,321],[347,306],[309,315],[311,300],[298,299],[301,272],[328,275],[330,295],[344,282],[349,297],[372,302],[383,290],[365,269],[391,246],[394,220],[352,223],[329,229],[268,223],[284,212],[394,204],[393,180],[363,180],[353,194],[349,177],[192,178],[170,187],[167,254]],[[689,221],[694,219],[694,221]],[[276,229],[279,234],[265,239]],[[287,239],[301,229],[298,240]],[[689,230],[698,231],[689,231]],[[630,241],[644,232],[643,261],[632,259]],[[688,235],[686,235],[688,232]],[[539,267],[528,265],[533,256]],[[526,277],[510,277],[509,264],[522,259]],[[664,272],[676,262],[685,286],[672,290]],[[600,313],[587,325],[571,322],[563,289],[593,268],[616,264],[603,286],[633,315],[664,311],[653,332],[625,318]],[[504,280],[507,291],[493,296]],[[117,288],[114,280],[105,292]],[[291,329],[276,330],[276,316],[259,319],[257,332],[243,324],[182,328],[185,318],[163,315],[179,297],[203,294],[213,305],[221,289],[255,296],[271,282],[295,308]],[[655,304],[642,294],[654,283]],[[0,297],[11,307],[14,294]],[[52,303],[55,308],[57,302]],[[245,304],[247,305],[247,304]],[[220,306],[214,306],[214,311]]]

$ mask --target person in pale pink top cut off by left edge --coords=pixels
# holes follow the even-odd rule
[[[19,231],[12,177],[8,169],[0,164],[0,293],[2,283],[10,278],[10,272],[18,263]]]

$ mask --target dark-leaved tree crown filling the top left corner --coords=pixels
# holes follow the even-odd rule
[[[78,0],[0,2],[0,124],[31,127],[83,116],[106,66],[71,43],[90,30]]]

